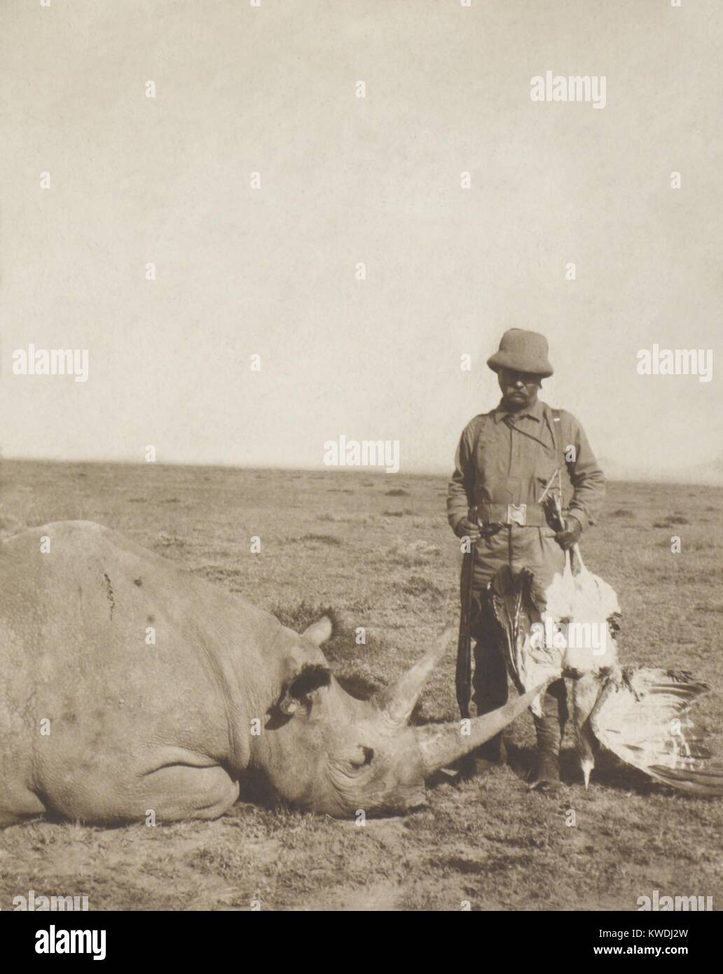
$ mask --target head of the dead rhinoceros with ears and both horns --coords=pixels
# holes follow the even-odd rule
[[[533,693],[500,710],[462,722],[409,727],[422,687],[443,656],[451,629],[393,685],[369,700],[346,693],[319,646],[331,633],[328,618],[294,639],[292,672],[270,712],[273,753],[267,774],[293,805],[335,817],[406,811],[423,805],[425,779],[501,731],[529,706]],[[464,732],[463,732],[464,731]]]

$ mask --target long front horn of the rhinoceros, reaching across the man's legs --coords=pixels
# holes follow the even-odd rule
[[[508,724],[512,724],[515,717],[529,707],[537,694],[545,690],[546,686],[547,683],[544,683],[535,687],[534,690],[510,700],[499,710],[484,714],[483,717],[474,717],[470,721],[469,734],[462,732],[463,724],[460,721],[415,728],[425,774],[432,774],[433,771],[464,758],[466,754],[494,737],[496,733],[504,731]]]

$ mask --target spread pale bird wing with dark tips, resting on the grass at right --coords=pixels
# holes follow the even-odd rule
[[[723,762],[706,747],[688,710],[709,688],[680,670],[626,671],[608,680],[590,714],[600,743],[673,788],[723,797]]]

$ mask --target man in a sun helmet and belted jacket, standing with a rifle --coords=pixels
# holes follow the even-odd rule
[[[497,372],[502,400],[489,413],[476,416],[462,432],[455,469],[447,491],[447,517],[458,538],[475,544],[473,597],[477,614],[473,700],[486,714],[507,700],[507,672],[499,649],[495,621],[484,589],[504,565],[516,574],[535,574],[537,592],[562,572],[564,551],[594,524],[605,494],[602,471],[583,428],[570,413],[552,410],[537,394],[552,375],[543,335],[512,328],[487,365]],[[563,507],[565,530],[552,527],[540,498],[560,469],[572,484],[569,508]],[[473,511],[472,508],[475,508]],[[479,605],[481,604],[481,611]],[[551,685],[544,716],[535,717],[538,743],[536,787],[560,788],[559,748],[567,719],[563,680]],[[476,752],[476,772],[504,761],[502,734]]]

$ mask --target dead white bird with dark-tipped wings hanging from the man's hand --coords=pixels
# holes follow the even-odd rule
[[[675,788],[723,796],[723,764],[705,747],[688,713],[708,687],[690,673],[622,669],[616,637],[620,605],[574,548],[544,596],[534,576],[503,569],[488,585],[508,670],[520,693],[561,676],[572,682],[572,717],[586,788],[598,742],[621,760]],[[538,716],[539,696],[531,707]]]

